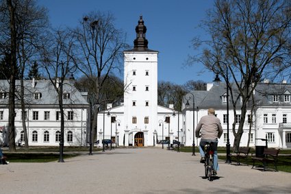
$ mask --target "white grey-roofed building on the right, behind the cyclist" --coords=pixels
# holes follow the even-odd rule
[[[250,147],[266,145],[267,141],[268,147],[291,147],[290,91],[291,84],[286,82],[282,84],[270,84],[268,82],[257,84],[253,93],[255,98],[254,111],[251,114],[252,104],[250,102],[246,112],[244,133],[242,134],[240,146],[246,146],[248,141]],[[225,146],[227,143],[227,90],[225,83],[220,83],[218,86],[207,84],[206,91],[192,91],[192,94],[194,95],[194,111],[191,101],[188,101],[190,106],[186,107],[185,98],[182,108],[184,143],[191,145],[194,137],[196,145],[199,144],[200,139],[193,136],[193,114],[194,128],[196,128],[201,117],[207,114],[208,108],[214,108],[216,117],[220,119],[224,131],[223,136],[218,141],[218,146]],[[241,103],[242,101],[238,101],[235,118],[229,97],[229,143],[231,146],[234,141],[233,125],[235,125],[237,131],[240,123]],[[251,122],[251,117],[253,122]]]

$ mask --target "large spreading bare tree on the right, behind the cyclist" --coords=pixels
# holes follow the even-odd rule
[[[192,59],[233,81],[234,85],[227,84],[234,114],[237,97],[242,97],[238,130],[233,125],[235,150],[240,145],[247,104],[257,82],[273,69],[290,64],[290,10],[290,1],[283,0],[218,0],[202,23],[211,40],[205,42],[208,47],[202,56]],[[194,45],[200,43],[194,40]]]

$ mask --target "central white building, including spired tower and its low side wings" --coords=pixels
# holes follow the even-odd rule
[[[181,114],[173,106],[157,105],[158,51],[148,48],[146,32],[140,16],[134,48],[123,52],[124,104],[114,108],[107,104],[107,110],[99,113],[99,142],[105,138],[116,145],[147,147],[160,145],[162,139],[170,139],[171,143],[178,140]]]

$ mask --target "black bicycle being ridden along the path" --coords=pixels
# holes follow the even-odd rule
[[[205,145],[205,178],[212,181],[212,175],[214,172],[214,149],[213,142],[207,142]]]

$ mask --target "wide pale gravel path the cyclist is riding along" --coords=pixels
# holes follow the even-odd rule
[[[0,193],[290,193],[291,173],[220,161],[203,179],[200,156],[160,148],[115,149],[64,163],[0,165]]]

